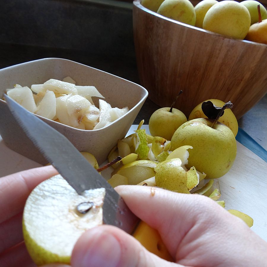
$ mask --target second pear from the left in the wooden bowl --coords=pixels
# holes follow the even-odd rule
[[[192,26],[196,23],[196,12],[189,0],[165,0],[157,13]]]

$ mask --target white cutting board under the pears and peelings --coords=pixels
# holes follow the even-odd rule
[[[132,125],[128,134],[136,130]],[[149,133],[148,125],[142,128]],[[128,135],[127,134],[127,135]],[[0,136],[0,177],[42,166],[10,150]],[[101,174],[108,178],[109,171]],[[231,170],[219,180],[226,209],[237,209],[254,220],[252,230],[267,241],[267,163],[237,142],[237,156]]]

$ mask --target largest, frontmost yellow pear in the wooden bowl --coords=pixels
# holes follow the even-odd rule
[[[240,3],[230,0],[213,5],[203,20],[203,29],[234,39],[244,39],[249,27],[248,9]]]

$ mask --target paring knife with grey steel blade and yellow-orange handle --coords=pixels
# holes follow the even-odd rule
[[[132,234],[150,252],[173,261],[158,231],[140,221],[120,195],[96,169],[81,155],[74,145],[53,127],[4,95],[7,105],[20,127],[35,147],[57,169],[78,194],[84,190],[105,188],[103,204],[104,224],[114,225]]]

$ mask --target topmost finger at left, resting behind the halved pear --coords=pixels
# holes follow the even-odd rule
[[[0,223],[21,212],[34,187],[56,174],[53,166],[45,166],[1,177]]]

